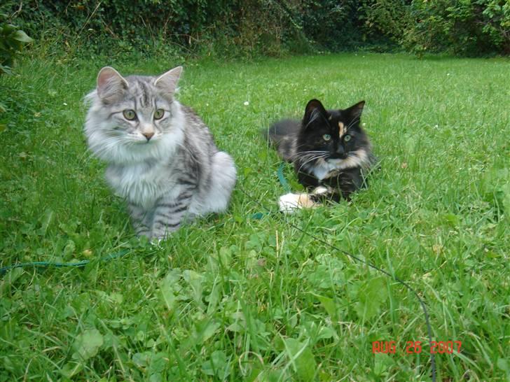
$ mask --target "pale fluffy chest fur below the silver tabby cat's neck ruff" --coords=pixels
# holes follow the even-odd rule
[[[172,193],[175,193],[174,197],[179,194],[177,182],[170,174],[167,164],[143,162],[110,166],[106,170],[106,179],[121,197],[151,209],[163,194],[170,198]]]

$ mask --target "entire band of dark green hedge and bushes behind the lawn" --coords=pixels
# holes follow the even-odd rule
[[[2,11],[48,54],[69,57],[510,52],[510,0],[26,0]]]

